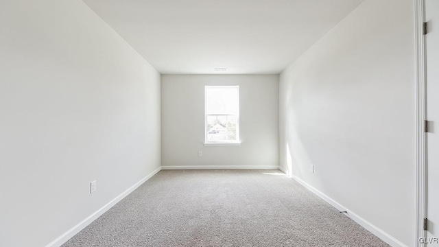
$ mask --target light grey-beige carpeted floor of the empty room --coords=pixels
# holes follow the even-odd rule
[[[388,246],[278,170],[163,170],[71,246]]]

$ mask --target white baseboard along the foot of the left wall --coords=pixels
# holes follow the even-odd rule
[[[117,202],[120,202],[123,198],[128,196],[132,191],[134,191],[134,189],[137,189],[137,187],[145,183],[148,179],[150,179],[152,176],[154,176],[157,172],[160,171],[161,171],[161,167],[158,167],[153,172],[145,176],[145,178],[142,178],[139,182],[132,185],[132,187],[128,188],[126,191],[123,191],[119,196],[117,196],[116,198],[105,204],[104,207],[98,209],[97,211],[95,211],[95,213],[92,213],[90,216],[86,217],[85,220],[82,220],[82,222],[78,223],[76,226],[73,226],[68,231],[60,235],[60,237],[57,237],[54,241],[47,244],[46,247],[61,246],[62,244],[67,242],[67,240],[71,239],[71,237],[73,237],[75,234],[79,233],[82,229],[84,229],[86,226],[91,224],[91,222],[96,220],[99,216],[101,216],[106,211],[108,211],[108,209],[110,209],[115,204],[117,204]]]

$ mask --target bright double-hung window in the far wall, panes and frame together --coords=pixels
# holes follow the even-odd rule
[[[239,86],[204,87],[205,143],[239,143]]]

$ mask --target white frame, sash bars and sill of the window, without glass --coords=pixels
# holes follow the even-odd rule
[[[237,89],[238,106],[236,114],[207,114],[207,89],[226,89],[233,88]],[[239,145],[241,141],[239,139],[239,86],[204,86],[204,145]],[[207,139],[207,117],[210,115],[228,115],[236,117],[236,140],[225,140],[225,141],[212,141]]]

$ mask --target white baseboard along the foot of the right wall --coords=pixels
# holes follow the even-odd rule
[[[279,167],[279,169],[281,169],[281,171],[283,171],[283,168]],[[348,217],[350,217],[353,221],[357,222],[360,226],[363,226],[364,228],[366,228],[366,230],[370,231],[370,233],[373,233],[374,235],[379,237],[384,242],[390,244],[390,246],[392,246],[392,247],[408,247],[405,244],[401,243],[398,239],[392,237],[388,233],[385,233],[385,231],[381,230],[380,228],[378,228],[374,224],[368,222],[367,220],[364,220],[362,217],[360,217],[356,213],[353,213],[349,209],[346,209],[346,207],[343,207],[342,204],[336,202],[335,200],[333,200],[329,196],[325,195],[324,193],[322,193],[318,189],[312,187],[311,185],[309,185],[305,181],[301,180],[300,178],[298,178],[296,176],[291,176],[291,177],[294,180],[296,180],[298,183],[300,183],[300,185],[309,189],[309,191],[315,193],[318,197],[322,198],[323,200],[325,200],[326,202],[331,204],[333,207],[335,207],[335,209],[338,209],[339,211],[347,211],[348,213],[346,213],[346,215]]]

